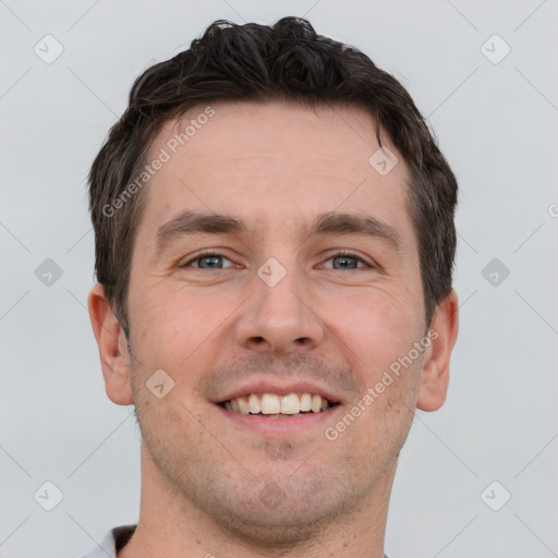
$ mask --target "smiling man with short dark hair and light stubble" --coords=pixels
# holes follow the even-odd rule
[[[89,556],[383,557],[446,397],[456,201],[403,87],[307,21],[216,22],[138,77],[90,172],[88,304],[142,505]]]

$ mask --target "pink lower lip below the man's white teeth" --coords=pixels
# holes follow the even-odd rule
[[[260,414],[242,414],[235,411],[227,411],[219,405],[216,407],[219,412],[223,413],[230,421],[233,421],[234,424],[264,436],[291,436],[324,425],[325,422],[331,423],[333,414],[341,408],[341,405],[336,405],[319,413],[271,418]]]

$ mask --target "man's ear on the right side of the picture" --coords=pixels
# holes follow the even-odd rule
[[[430,345],[425,351],[416,407],[437,411],[446,400],[449,383],[449,357],[459,329],[459,305],[456,291],[444,299],[434,314],[428,331]]]

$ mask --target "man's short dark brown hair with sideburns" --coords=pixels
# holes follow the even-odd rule
[[[122,199],[161,126],[194,106],[217,101],[290,100],[366,109],[403,156],[408,205],[418,243],[426,323],[450,292],[458,185],[404,87],[360,50],[317,35],[311,23],[275,25],[219,20],[174,58],[147,69],[130,92],[89,173],[97,280],[128,333],[128,286],[143,190]],[[118,202],[120,199],[120,203]],[[125,202],[125,203],[124,203]],[[116,210],[118,208],[118,210]]]

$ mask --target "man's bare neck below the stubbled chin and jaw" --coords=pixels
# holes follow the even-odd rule
[[[232,532],[217,524],[161,475],[142,442],[142,504],[137,529],[118,558],[338,558],[384,557],[389,496],[397,461],[377,483],[371,498],[351,514],[316,526],[312,536],[286,544],[252,538],[246,532]]]

